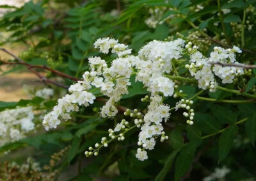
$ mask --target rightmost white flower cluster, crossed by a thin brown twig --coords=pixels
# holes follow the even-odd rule
[[[235,52],[241,53],[242,51],[234,46],[233,49],[223,49],[222,47],[214,47],[214,51],[211,52],[209,58],[205,58],[203,54],[197,51],[197,47],[191,47],[192,43],[189,42],[186,45],[186,49],[191,54],[190,65],[186,65],[192,76],[198,80],[198,87],[203,90],[209,89],[211,92],[216,91],[218,83],[214,78],[214,75],[222,79],[223,84],[232,83],[234,77],[244,74],[244,70],[241,67],[222,67],[221,65],[214,63],[235,63]]]

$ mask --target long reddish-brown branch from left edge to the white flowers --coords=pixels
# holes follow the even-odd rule
[[[50,67],[47,67],[45,65],[30,65],[30,64],[24,63],[24,62],[6,62],[6,61],[2,61],[1,59],[0,59],[0,61],[2,63],[4,63],[4,64],[8,64],[8,65],[25,65],[28,68],[42,68],[42,69],[45,69],[45,70],[49,70],[49,71],[51,71],[54,74],[61,75],[62,77],[67,77],[68,79],[71,79],[73,81],[80,81],[76,77],[72,77],[71,75],[64,74],[64,73],[62,73],[62,72],[60,72],[58,70],[54,70],[54,69],[52,69]]]

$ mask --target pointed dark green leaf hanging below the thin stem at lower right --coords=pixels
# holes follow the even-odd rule
[[[237,132],[238,127],[236,125],[232,125],[221,133],[219,140],[219,162],[223,161],[223,159],[227,157],[230,149],[233,146],[234,138]]]

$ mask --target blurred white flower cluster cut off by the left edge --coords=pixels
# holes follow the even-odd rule
[[[0,112],[0,146],[25,138],[35,129],[32,107],[20,107]]]

